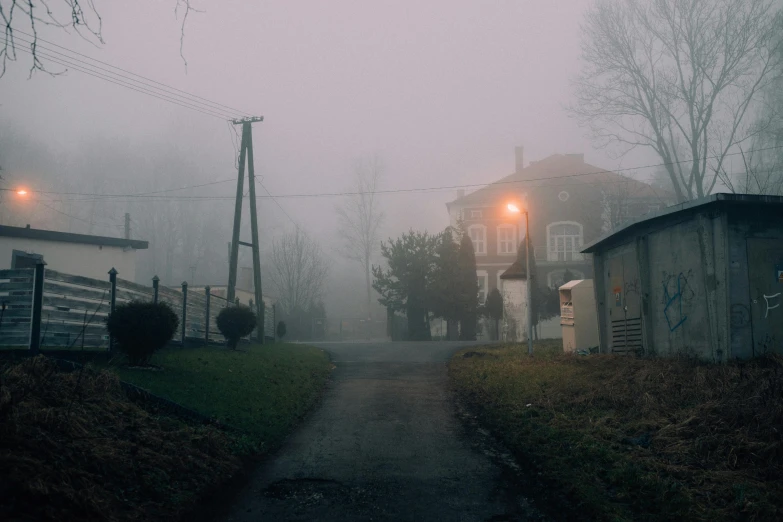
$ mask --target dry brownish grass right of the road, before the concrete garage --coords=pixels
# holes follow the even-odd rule
[[[783,518],[783,358],[706,365],[558,351],[470,349],[450,374],[585,518]]]

